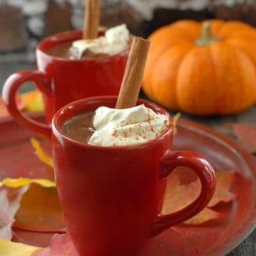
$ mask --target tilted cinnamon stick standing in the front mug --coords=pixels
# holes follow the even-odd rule
[[[125,74],[122,78],[116,109],[125,109],[136,105],[149,48],[150,41],[134,37]]]

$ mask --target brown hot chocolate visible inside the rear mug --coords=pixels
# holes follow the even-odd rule
[[[63,42],[57,46],[54,46],[46,51],[46,54],[49,54],[58,58],[74,58],[73,54],[71,54],[70,47],[72,46],[72,42]],[[82,54],[82,58],[98,58],[108,56],[108,54],[94,54],[90,50],[86,50],[84,54]]]

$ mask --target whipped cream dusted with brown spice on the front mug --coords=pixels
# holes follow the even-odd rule
[[[122,110],[101,106],[95,111],[93,125],[95,131],[88,144],[125,146],[158,137],[169,125],[169,118],[145,105]]]

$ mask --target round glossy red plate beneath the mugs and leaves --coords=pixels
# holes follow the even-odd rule
[[[41,115],[34,115],[42,122]],[[12,118],[0,119],[0,179],[5,177],[53,178],[48,166],[40,162],[34,154],[29,139],[33,134],[19,126]],[[50,144],[43,141],[42,146],[50,152]],[[178,134],[174,136],[174,150],[197,150],[219,171],[235,170],[238,172],[232,191],[237,198],[218,206],[224,214],[222,222],[206,222],[199,226],[175,226],[175,237],[170,230],[150,240],[155,242],[149,248],[152,256],[194,255],[190,253],[189,244],[198,248],[202,256],[222,256],[233,250],[244,240],[256,226],[256,164],[245,150],[230,138],[217,134],[206,126],[198,125],[184,119],[178,121]],[[167,183],[167,186],[170,186]],[[50,245],[52,233],[38,233],[26,230],[14,230],[14,240],[35,246]],[[159,252],[159,254],[158,254]]]

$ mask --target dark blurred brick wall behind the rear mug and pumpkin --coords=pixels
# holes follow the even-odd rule
[[[35,69],[34,49],[40,39],[82,27],[84,2],[0,0],[0,89],[14,71]],[[237,19],[256,26],[256,1],[102,0],[102,26],[125,22],[131,33],[143,37],[160,26],[185,18]]]

